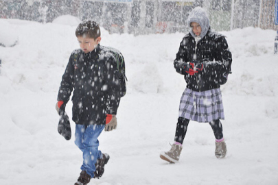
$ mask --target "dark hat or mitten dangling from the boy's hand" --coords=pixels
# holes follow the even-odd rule
[[[58,132],[61,134],[66,140],[71,139],[71,124],[69,123],[69,116],[65,111],[61,112],[60,120],[58,123]]]

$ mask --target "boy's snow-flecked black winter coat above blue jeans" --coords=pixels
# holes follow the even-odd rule
[[[62,76],[58,101],[67,103],[73,90],[73,121],[76,124],[105,124],[106,114],[117,114],[119,73],[115,57],[98,45],[90,53],[73,51]]]

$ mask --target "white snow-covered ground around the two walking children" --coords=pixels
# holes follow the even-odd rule
[[[9,40],[0,35],[0,42],[17,40],[0,47],[0,184],[68,185],[79,176],[82,153],[74,136],[67,141],[58,134],[55,110],[60,79],[79,47],[77,25],[60,23],[0,19],[1,29],[12,33]],[[227,158],[214,156],[209,124],[191,122],[180,162],[168,164],[159,153],[174,140],[185,88],[172,64],[184,34],[110,35],[102,29],[101,44],[125,57],[128,93],[117,130],[99,138],[111,160],[90,184],[278,184],[276,32],[246,27],[221,33],[233,54],[233,74],[221,87]],[[71,102],[66,110],[71,116]],[[73,132],[74,126],[71,121]]]

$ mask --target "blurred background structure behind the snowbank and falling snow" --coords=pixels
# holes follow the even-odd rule
[[[0,18],[40,23],[70,14],[93,19],[110,33],[187,32],[187,16],[196,6],[207,10],[211,27],[278,29],[275,0],[0,0]]]

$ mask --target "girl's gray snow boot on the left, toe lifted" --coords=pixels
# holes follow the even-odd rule
[[[182,146],[173,144],[170,151],[160,153],[160,158],[170,163],[176,163],[180,159]]]

